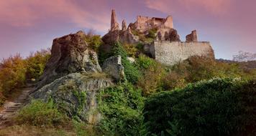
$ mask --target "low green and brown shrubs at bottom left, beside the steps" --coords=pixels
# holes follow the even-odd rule
[[[12,118],[12,127],[0,130],[4,135],[101,135],[85,122],[68,118],[52,100],[32,100]]]

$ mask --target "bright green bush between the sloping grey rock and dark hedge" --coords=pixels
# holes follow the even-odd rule
[[[99,110],[103,120],[99,123],[105,135],[142,135],[144,129],[142,96],[132,84],[109,87],[99,94]]]

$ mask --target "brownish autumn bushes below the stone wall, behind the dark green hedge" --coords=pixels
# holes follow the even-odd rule
[[[213,77],[242,77],[252,79],[256,74],[253,71],[244,72],[239,64],[216,62],[206,57],[190,57],[175,64],[163,78],[163,90],[185,87],[188,83],[198,82]]]

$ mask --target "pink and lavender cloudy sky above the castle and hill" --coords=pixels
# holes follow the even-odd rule
[[[182,41],[196,29],[216,58],[232,59],[239,51],[256,52],[255,6],[255,0],[0,0],[0,58],[27,57],[79,30],[103,36],[115,9],[119,24],[171,15]]]

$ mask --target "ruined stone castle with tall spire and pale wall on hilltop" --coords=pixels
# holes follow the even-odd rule
[[[154,29],[155,39],[145,43],[140,36],[147,36]],[[133,31],[140,32],[140,35]],[[111,29],[103,37],[106,45],[110,42],[119,41],[128,44],[144,44],[144,52],[158,62],[173,65],[192,56],[209,57],[214,59],[214,50],[209,42],[198,42],[196,30],[186,36],[186,42],[180,41],[178,31],[173,27],[173,17],[166,19],[148,16],[137,16],[137,21],[130,23],[127,27],[126,21],[122,21],[122,29],[116,19],[114,10],[111,12]]]

